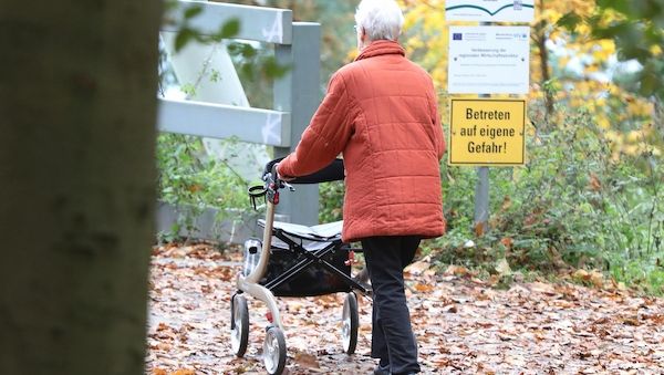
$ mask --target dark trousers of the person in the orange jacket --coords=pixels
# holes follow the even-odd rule
[[[415,257],[419,238],[370,237],[362,240],[373,288],[371,356],[390,363],[392,374],[417,373],[417,344],[404,291],[404,268]]]

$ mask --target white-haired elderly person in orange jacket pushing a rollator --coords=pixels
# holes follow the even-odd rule
[[[373,288],[374,374],[419,372],[404,268],[423,238],[445,231],[439,160],[445,138],[429,75],[405,58],[394,0],[363,0],[354,62],[332,75],[295,150],[278,165],[288,179],[343,153],[344,241],[361,241]]]

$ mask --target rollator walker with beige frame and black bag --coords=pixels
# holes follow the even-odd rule
[[[266,201],[262,241],[248,239],[245,242],[243,269],[237,277],[237,292],[231,298],[231,346],[238,357],[247,351],[249,341],[249,310],[243,293],[263,303],[268,326],[262,345],[262,357],[269,374],[281,374],[286,367],[287,347],[284,327],[281,323],[276,296],[313,296],[345,292],[342,310],[341,341],[343,351],[353,354],[357,344],[357,296],[355,292],[371,295],[367,285],[351,277],[355,252],[341,240],[342,221],[307,227],[274,221],[274,209],[279,205],[279,190],[290,184],[320,184],[344,178],[343,160],[335,159],[315,174],[298,177],[289,183],[280,180],[271,160],[263,171],[263,185],[249,188],[249,197],[257,202]]]

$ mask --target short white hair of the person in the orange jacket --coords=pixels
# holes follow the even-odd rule
[[[355,11],[355,23],[372,41],[396,41],[404,25],[404,14],[394,0],[362,0]]]

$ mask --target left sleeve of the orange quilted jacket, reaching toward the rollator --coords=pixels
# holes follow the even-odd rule
[[[299,177],[328,166],[344,149],[352,134],[351,104],[343,76],[336,72],[295,150],[279,163],[279,174]]]

